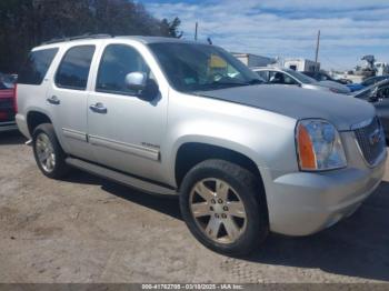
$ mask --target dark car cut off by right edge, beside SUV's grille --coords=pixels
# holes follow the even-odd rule
[[[371,102],[380,118],[386,139],[389,141],[389,79],[352,93],[358,99]]]

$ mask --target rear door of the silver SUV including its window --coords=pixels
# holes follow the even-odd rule
[[[63,53],[47,94],[53,126],[64,150],[93,160],[87,139],[87,103],[94,44],[73,46]]]

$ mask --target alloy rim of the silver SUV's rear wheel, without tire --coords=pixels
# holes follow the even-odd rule
[[[40,165],[46,172],[52,172],[56,167],[56,153],[49,137],[46,133],[39,133],[36,144],[37,157]]]

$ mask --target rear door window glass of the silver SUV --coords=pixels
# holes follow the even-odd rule
[[[56,84],[60,88],[86,90],[93,53],[94,46],[69,49],[58,68]]]

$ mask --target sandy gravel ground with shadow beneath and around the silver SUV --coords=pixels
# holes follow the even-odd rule
[[[389,171],[351,218],[232,259],[194,240],[177,198],[76,170],[50,180],[24,141],[0,134],[0,282],[389,281]]]

